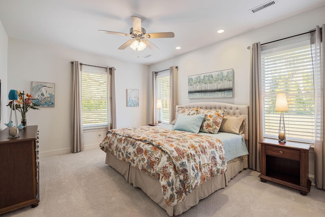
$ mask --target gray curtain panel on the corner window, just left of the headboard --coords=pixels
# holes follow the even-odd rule
[[[178,105],[178,67],[172,66],[170,70],[170,118],[169,121],[175,119],[175,106]]]

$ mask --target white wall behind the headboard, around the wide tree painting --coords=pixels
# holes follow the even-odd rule
[[[219,101],[249,105],[249,59],[247,49],[254,42],[267,43],[281,38],[308,32],[316,25],[325,23],[325,7],[290,17],[261,28],[257,28],[219,43],[188,52],[175,58],[151,65],[150,71],[169,66],[178,66],[178,104],[190,102]],[[225,28],[226,31],[226,28]],[[206,72],[234,69],[233,99],[188,99],[187,76]],[[314,153],[309,154],[309,174],[314,174]]]

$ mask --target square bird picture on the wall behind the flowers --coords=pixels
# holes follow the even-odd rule
[[[40,107],[54,107],[55,83],[31,82],[33,103]]]

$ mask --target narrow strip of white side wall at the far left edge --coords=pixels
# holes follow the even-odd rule
[[[0,130],[4,127],[2,123],[7,123],[7,67],[8,66],[8,36],[0,20],[0,79],[1,79],[1,96],[0,96]]]

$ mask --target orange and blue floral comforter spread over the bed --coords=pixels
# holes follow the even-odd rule
[[[100,146],[158,179],[169,206],[227,168],[219,139],[184,131],[148,126],[115,129],[108,131]]]

